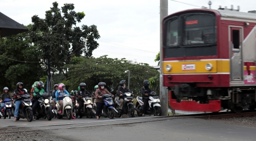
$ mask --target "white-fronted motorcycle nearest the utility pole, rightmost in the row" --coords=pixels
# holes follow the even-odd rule
[[[145,93],[147,93],[147,91],[144,91]],[[148,105],[149,108],[147,108],[146,110],[146,115],[153,115],[154,116],[161,116],[162,111],[161,111],[161,105],[160,105],[160,100],[159,97],[156,96],[157,94],[152,91],[148,94]],[[135,110],[137,111],[137,115],[138,116],[142,116],[142,110],[143,110],[143,100],[142,97],[137,96],[137,102],[136,102],[136,108]]]

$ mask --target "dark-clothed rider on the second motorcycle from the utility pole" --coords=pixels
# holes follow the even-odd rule
[[[122,112],[122,109],[123,109],[123,106],[124,106],[124,98],[125,98],[125,96],[123,96],[123,94],[125,92],[130,92],[130,90],[125,87],[126,86],[125,85],[125,80],[120,81],[119,85],[121,87],[117,91],[117,96],[119,96],[119,101],[120,101],[119,112]]]

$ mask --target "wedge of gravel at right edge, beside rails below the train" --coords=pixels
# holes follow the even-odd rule
[[[239,118],[228,118],[228,119],[211,119],[218,123],[233,124],[245,127],[254,127],[256,128],[256,116],[253,117],[239,117]]]

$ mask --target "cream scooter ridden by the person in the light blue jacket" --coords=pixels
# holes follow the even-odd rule
[[[60,114],[60,103],[59,101],[56,102],[57,111],[55,114],[57,115],[58,119],[61,119],[63,116],[67,116],[68,119],[71,119],[71,112],[72,112],[72,100],[67,94],[62,94],[61,97],[64,97],[62,102],[62,113]],[[58,99],[58,98],[57,98]]]

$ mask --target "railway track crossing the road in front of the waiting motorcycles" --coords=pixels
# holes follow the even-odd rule
[[[201,113],[201,114],[175,115],[175,116],[148,116],[148,117],[136,117],[136,118],[128,118],[128,119],[114,119],[114,120],[103,120],[103,121],[97,120],[95,122],[80,122],[80,123],[70,123],[70,124],[48,124],[48,125],[37,125],[37,126],[4,127],[4,128],[0,128],[0,133],[31,132],[31,131],[56,130],[56,129],[70,129],[70,128],[88,128],[88,127],[97,127],[97,126],[106,126],[106,125],[155,122],[155,121],[173,120],[173,119],[180,119],[180,118],[219,119],[219,118],[256,116],[255,111],[254,112],[243,111],[242,113],[237,113],[237,114],[226,114],[226,113],[227,112]],[[132,120],[135,120],[135,121],[132,121]],[[76,124],[79,124],[79,126],[75,126]],[[91,125],[88,125],[88,124],[91,124]],[[15,131],[16,129],[24,129],[24,130]],[[3,130],[8,130],[8,131],[3,131]]]

